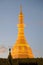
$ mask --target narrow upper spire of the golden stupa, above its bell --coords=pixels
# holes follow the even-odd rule
[[[24,16],[22,13],[22,6],[20,6],[19,21],[17,26],[18,26],[18,38],[24,38]]]

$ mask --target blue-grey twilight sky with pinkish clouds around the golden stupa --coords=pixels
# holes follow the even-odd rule
[[[0,0],[0,57],[7,57],[16,42],[20,5],[26,40],[34,56],[43,57],[43,0]]]

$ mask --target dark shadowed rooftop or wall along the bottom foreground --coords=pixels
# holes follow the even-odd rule
[[[7,59],[0,58],[0,65],[43,65],[43,58],[23,58],[23,59],[12,59],[8,57]]]

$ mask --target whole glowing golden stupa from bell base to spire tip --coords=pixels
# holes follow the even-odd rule
[[[27,43],[24,36],[24,19],[23,19],[22,7],[20,7],[19,23],[18,23],[18,37],[16,43],[11,49],[11,56],[15,58],[34,58],[32,49]]]

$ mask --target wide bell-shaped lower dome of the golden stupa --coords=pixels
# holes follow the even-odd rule
[[[26,40],[17,40],[11,50],[12,58],[34,58],[32,49]]]

